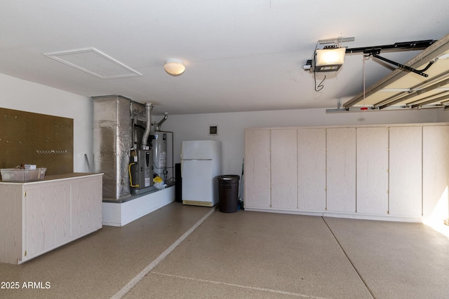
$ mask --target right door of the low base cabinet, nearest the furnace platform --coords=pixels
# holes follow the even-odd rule
[[[102,179],[93,176],[72,181],[72,237],[80,237],[102,226]]]

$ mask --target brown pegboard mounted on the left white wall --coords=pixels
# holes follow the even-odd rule
[[[73,119],[0,108],[0,168],[22,164],[73,172]]]

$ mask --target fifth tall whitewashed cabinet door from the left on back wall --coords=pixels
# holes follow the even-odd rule
[[[388,128],[357,128],[357,213],[388,213]]]

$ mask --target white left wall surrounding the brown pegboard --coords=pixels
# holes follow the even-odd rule
[[[0,107],[74,120],[74,172],[92,165],[93,105],[91,98],[0,74]]]

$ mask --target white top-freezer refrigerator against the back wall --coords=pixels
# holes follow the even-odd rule
[[[215,140],[182,141],[182,203],[213,207],[218,203],[221,175],[221,142]]]

